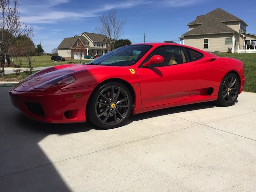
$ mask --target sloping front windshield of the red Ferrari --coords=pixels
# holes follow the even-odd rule
[[[129,66],[135,64],[152,45],[126,45],[87,63],[96,65]]]

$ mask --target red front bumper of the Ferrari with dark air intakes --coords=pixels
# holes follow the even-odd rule
[[[12,88],[9,94],[13,106],[30,119],[45,123],[77,123],[86,121],[86,104],[95,87],[91,85],[51,92],[19,92]],[[28,103],[39,104],[43,113],[31,110]]]

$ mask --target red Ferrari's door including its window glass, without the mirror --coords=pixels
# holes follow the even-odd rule
[[[186,100],[194,89],[197,74],[194,62],[188,62],[185,48],[158,47],[143,63],[153,55],[163,56],[164,62],[138,68],[142,108]]]

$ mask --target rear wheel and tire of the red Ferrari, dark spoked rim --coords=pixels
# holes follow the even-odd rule
[[[215,104],[218,106],[234,105],[239,94],[240,82],[236,74],[229,73],[222,79],[220,83],[218,99]]]

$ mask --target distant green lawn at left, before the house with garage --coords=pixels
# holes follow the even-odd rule
[[[79,60],[65,60],[65,61],[57,61],[57,63],[54,63],[54,61],[51,60],[50,55],[43,55],[43,56],[32,56],[31,62],[32,67],[48,67],[48,66],[55,66],[55,65],[62,65],[67,64],[68,62],[74,62],[79,63]],[[17,64],[17,61],[15,58],[13,58],[15,65]],[[28,61],[26,57],[19,57],[18,58],[18,65],[20,64],[19,60],[21,60],[21,67],[22,68],[28,68]],[[91,60],[82,60],[82,63],[87,63]]]

